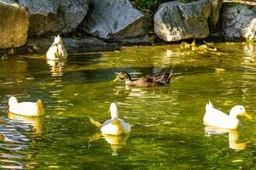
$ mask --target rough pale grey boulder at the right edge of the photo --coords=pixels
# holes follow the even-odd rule
[[[226,40],[256,38],[256,7],[224,3],[222,34]]]

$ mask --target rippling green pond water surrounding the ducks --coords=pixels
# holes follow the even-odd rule
[[[62,63],[26,55],[1,59],[0,167],[256,169],[255,118],[241,117],[237,143],[250,141],[246,150],[231,149],[228,133],[205,133],[208,100],[225,112],[244,105],[256,117],[255,46],[217,48],[222,54],[183,55],[178,45],[168,45],[70,55]],[[170,68],[174,76],[165,87],[126,89],[124,82],[112,82],[120,71],[138,78]],[[11,95],[42,99],[45,116],[30,122],[9,116]],[[130,135],[109,138],[90,124],[89,115],[107,120],[112,102],[132,125]]]

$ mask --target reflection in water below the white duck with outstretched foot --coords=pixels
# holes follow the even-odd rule
[[[115,136],[115,135],[108,135],[104,133],[94,133],[88,142],[89,148],[92,145],[92,142],[98,139],[105,139],[108,144],[110,144],[110,147],[112,149],[112,156],[118,156],[118,150],[122,149],[125,145],[126,140],[129,138],[130,133],[121,135],[121,136]]]

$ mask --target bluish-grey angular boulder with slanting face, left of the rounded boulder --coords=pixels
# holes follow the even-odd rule
[[[151,21],[129,0],[91,0],[92,10],[82,30],[103,39],[140,37],[148,32]]]

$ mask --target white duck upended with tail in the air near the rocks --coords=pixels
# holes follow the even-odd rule
[[[47,59],[67,59],[67,51],[61,40],[60,35],[55,37],[55,41],[49,47],[46,53]]]

